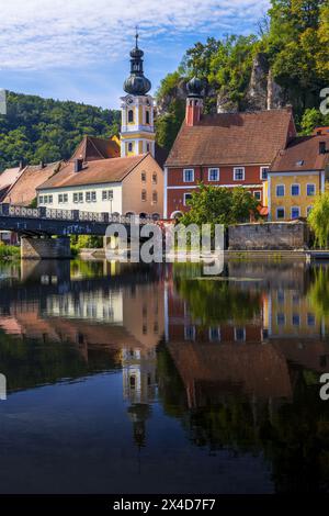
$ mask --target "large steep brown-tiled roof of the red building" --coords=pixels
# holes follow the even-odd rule
[[[183,122],[166,165],[271,164],[288,136],[291,109],[204,115],[194,126]]]

